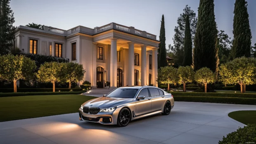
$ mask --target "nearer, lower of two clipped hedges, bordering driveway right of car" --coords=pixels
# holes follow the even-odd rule
[[[252,104],[256,105],[256,99],[252,98],[238,98],[238,97],[186,97],[173,96],[175,101],[179,102],[210,102],[210,103],[224,103],[224,104]]]

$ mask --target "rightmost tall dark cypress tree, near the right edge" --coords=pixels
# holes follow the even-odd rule
[[[247,2],[236,0],[233,20],[233,59],[237,57],[251,57],[251,28]]]

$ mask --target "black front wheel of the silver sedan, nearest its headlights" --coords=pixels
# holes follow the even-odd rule
[[[131,118],[131,113],[129,109],[127,108],[121,109],[117,117],[117,125],[119,127],[125,127],[130,122],[130,118]]]

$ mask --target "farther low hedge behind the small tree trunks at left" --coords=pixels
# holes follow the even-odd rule
[[[71,88],[73,92],[79,92],[82,88]],[[69,92],[69,88],[55,88],[55,92]],[[0,92],[13,92],[13,88],[0,88]],[[52,88],[17,88],[17,92],[52,92]]]

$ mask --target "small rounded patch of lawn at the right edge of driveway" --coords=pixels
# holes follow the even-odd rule
[[[256,124],[256,111],[233,111],[228,116],[245,125]]]

